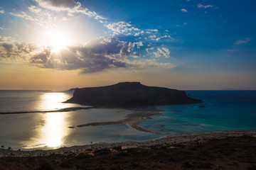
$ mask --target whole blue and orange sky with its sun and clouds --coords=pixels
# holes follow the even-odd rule
[[[256,89],[254,0],[1,0],[0,89]]]

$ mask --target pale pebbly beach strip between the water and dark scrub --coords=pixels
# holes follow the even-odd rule
[[[156,145],[190,145],[193,142],[204,143],[210,140],[225,139],[226,137],[242,137],[247,135],[256,137],[256,131],[218,131],[218,132],[203,132],[192,135],[166,135],[156,140],[147,141],[127,141],[127,142],[98,142],[91,145],[80,145],[73,147],[60,147],[58,149],[50,150],[11,150],[0,149],[0,157],[46,157],[50,154],[69,155],[80,153],[93,154],[95,150],[99,149],[113,149],[113,147],[122,147],[122,149],[130,148],[147,148]]]

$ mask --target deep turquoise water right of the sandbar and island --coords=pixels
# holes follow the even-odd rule
[[[139,123],[166,135],[219,130],[256,130],[256,91],[186,91],[204,103],[156,106],[166,111]],[[198,106],[205,106],[198,108]]]

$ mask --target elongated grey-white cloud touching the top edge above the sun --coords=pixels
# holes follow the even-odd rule
[[[107,18],[103,18],[98,15],[95,11],[89,11],[87,8],[82,7],[79,1],[74,0],[36,0],[38,5],[43,8],[48,8],[53,11],[68,11],[70,15],[72,13],[83,13],[89,17],[105,20]]]

